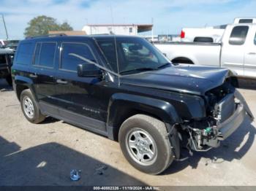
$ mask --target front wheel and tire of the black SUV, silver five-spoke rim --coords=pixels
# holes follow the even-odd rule
[[[146,174],[160,174],[173,162],[165,123],[136,114],[121,125],[118,141],[128,162]]]

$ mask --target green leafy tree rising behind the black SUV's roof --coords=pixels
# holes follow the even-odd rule
[[[59,24],[55,18],[45,15],[34,17],[28,24],[24,32],[25,36],[46,35],[49,31],[73,31],[67,21]]]

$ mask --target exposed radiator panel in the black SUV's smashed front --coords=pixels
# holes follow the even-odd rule
[[[236,109],[235,96],[233,93],[227,94],[214,106],[214,117],[221,123],[227,120]]]

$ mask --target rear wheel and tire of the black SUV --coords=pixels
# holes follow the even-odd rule
[[[24,116],[29,122],[39,123],[45,120],[45,115],[40,112],[37,101],[35,101],[31,90],[23,90],[20,94],[20,106]]]

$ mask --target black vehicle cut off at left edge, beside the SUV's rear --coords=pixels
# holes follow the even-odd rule
[[[5,78],[9,85],[12,85],[11,66],[14,57],[12,50],[0,48],[0,78]]]

